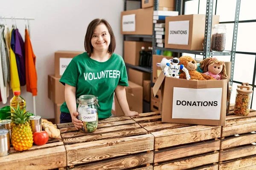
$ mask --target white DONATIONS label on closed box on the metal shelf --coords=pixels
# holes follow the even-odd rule
[[[189,21],[170,21],[168,44],[189,44]]]

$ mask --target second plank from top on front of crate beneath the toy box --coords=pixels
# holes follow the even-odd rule
[[[190,144],[181,147],[173,147],[171,149],[154,152],[154,163],[169,161],[173,159],[181,159],[187,156],[198,155],[215,150],[220,150],[220,140]]]

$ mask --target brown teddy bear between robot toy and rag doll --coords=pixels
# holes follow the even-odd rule
[[[180,57],[181,65],[184,65],[189,71],[190,79],[192,80],[215,80],[214,78],[207,76],[205,74],[199,73],[197,70],[197,62],[195,59],[189,56]],[[186,74],[183,71],[180,71],[180,79],[186,79]]]

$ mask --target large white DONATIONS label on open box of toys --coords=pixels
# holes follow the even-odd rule
[[[173,88],[172,119],[219,120],[222,88]]]

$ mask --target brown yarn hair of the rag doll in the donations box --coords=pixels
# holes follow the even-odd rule
[[[216,64],[219,64],[219,65],[222,65],[222,70],[221,70],[221,73],[224,77],[227,77],[227,71],[226,71],[226,65],[223,61],[219,61],[218,59],[216,58],[206,58],[204,60],[202,60],[200,62],[200,68],[205,72],[208,71],[208,66],[210,64],[213,64],[213,63],[216,63]],[[227,77],[228,78],[228,77]]]

